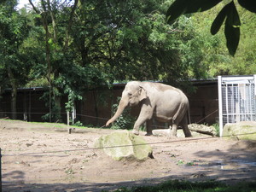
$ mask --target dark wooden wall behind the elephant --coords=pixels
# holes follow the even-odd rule
[[[194,82],[196,91],[189,94],[191,123],[212,125],[218,121],[218,83]],[[117,97],[121,96],[125,84],[113,85],[113,90],[90,90],[84,94],[84,100],[76,102],[76,116],[84,125],[102,126],[111,118],[112,106],[117,103]],[[49,113],[45,107],[43,88],[19,89],[17,97],[17,117],[28,121],[44,121],[42,115]],[[67,122],[65,112],[67,96],[61,99],[61,118]],[[131,114],[138,116],[139,106],[131,108]],[[0,118],[10,117],[10,91],[3,92],[0,98]],[[162,124],[155,124],[163,126]]]

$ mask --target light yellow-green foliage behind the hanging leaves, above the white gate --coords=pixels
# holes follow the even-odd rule
[[[202,13],[195,13],[189,16],[189,20],[195,26],[195,33],[200,34],[201,51],[203,58],[201,65],[207,73],[207,78],[215,78],[217,75],[249,75],[256,73],[256,44],[252,37],[255,37],[256,15],[251,14],[246,9],[238,7],[241,23],[241,40],[236,50],[236,56],[230,55],[226,51],[224,27],[219,29],[218,34],[212,36],[209,28],[212,20],[222,9],[220,3],[216,7]],[[195,39],[196,40],[196,39]]]

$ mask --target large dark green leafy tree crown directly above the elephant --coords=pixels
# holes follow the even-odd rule
[[[166,25],[166,9],[161,1],[81,3],[72,30],[81,65],[100,69],[110,83],[187,79],[197,61],[188,57],[185,65],[180,50],[193,32],[184,37],[180,26]]]

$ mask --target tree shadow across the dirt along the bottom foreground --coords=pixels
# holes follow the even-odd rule
[[[188,167],[189,168],[189,167]],[[183,172],[182,175],[171,175],[167,177],[151,177],[137,181],[126,181],[116,183],[25,183],[23,180],[24,173],[22,172],[11,172],[13,177],[18,177],[19,181],[16,183],[3,182],[3,191],[26,191],[26,192],[49,192],[49,191],[76,191],[76,192],[99,192],[102,190],[114,190],[122,187],[131,188],[134,186],[154,185],[163,183],[169,180],[186,180],[191,182],[210,181],[216,180],[228,184],[237,182],[247,181],[256,182],[256,166],[248,168],[238,169],[222,169],[221,166],[218,168],[209,167],[204,171],[194,172],[191,174]],[[3,175],[3,177],[5,177]]]

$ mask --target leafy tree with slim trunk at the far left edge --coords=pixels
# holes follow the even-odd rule
[[[26,55],[20,47],[27,38],[30,27],[27,19],[15,10],[16,0],[3,2],[0,8],[0,66],[1,73],[6,73],[3,78],[9,79],[11,86],[11,113],[16,119],[17,88],[26,84],[30,66],[26,62]],[[6,83],[6,82],[5,82]]]

